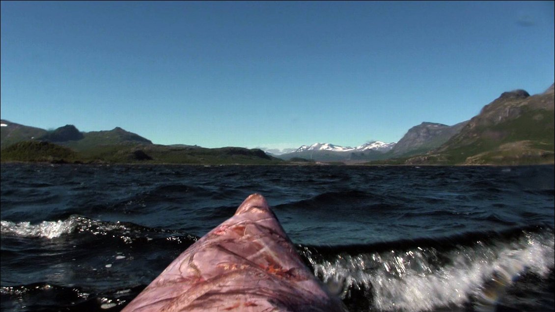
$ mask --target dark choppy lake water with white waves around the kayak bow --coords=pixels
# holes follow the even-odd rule
[[[251,193],[351,311],[553,311],[554,168],[3,164],[2,311],[117,311]]]

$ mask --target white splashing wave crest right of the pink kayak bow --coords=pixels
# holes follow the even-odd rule
[[[524,273],[546,278],[553,270],[552,229],[521,231],[515,239],[475,241],[449,250],[413,245],[360,254],[339,253],[324,259],[310,248],[301,251],[325,283],[341,283],[341,296],[364,291],[377,310],[424,311],[472,302],[487,310]],[[328,257],[329,258],[329,257]]]

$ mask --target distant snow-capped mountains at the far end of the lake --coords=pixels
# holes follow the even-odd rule
[[[382,159],[385,152],[390,150],[395,143],[372,141],[356,148],[342,147],[331,143],[314,143],[301,145],[295,152],[278,155],[276,157],[290,160],[304,158],[320,162],[343,162],[347,160],[374,160]]]

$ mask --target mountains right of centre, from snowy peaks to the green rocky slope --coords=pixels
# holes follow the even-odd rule
[[[553,162],[553,85],[530,96],[504,92],[480,114],[455,125],[423,122],[397,143],[359,147],[302,145],[281,159],[390,164],[521,164]]]

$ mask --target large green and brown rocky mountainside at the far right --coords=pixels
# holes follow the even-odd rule
[[[553,85],[546,92],[502,93],[441,147],[407,164],[538,164],[554,162]]]

